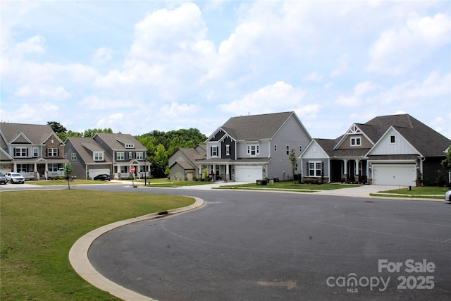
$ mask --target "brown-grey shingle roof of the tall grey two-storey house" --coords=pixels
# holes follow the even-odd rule
[[[221,128],[235,140],[271,139],[294,112],[232,117]]]

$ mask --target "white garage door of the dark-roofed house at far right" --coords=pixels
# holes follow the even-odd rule
[[[373,164],[374,185],[414,186],[415,164]]]

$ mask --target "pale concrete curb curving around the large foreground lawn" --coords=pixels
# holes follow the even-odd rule
[[[133,300],[133,301],[156,301],[151,297],[147,297],[136,293],[128,288],[124,288],[113,281],[110,281],[108,278],[102,276],[94,266],[92,266],[91,262],[89,262],[89,258],[87,256],[87,252],[89,247],[92,245],[92,242],[96,240],[100,235],[103,235],[106,232],[113,230],[114,228],[118,228],[121,226],[128,225],[130,223],[137,223],[138,221],[147,221],[150,219],[158,219],[163,216],[168,216],[170,214],[180,214],[185,211],[189,211],[192,209],[196,209],[201,207],[204,204],[204,200],[199,197],[193,197],[195,199],[194,204],[178,208],[172,209],[160,213],[152,213],[146,214],[143,216],[138,216],[132,219],[126,219],[125,221],[117,221],[116,223],[110,223],[109,225],[102,226],[97,228],[79,238],[75,244],[69,250],[69,262],[72,265],[75,272],[80,275],[85,281],[94,285],[96,288],[100,290],[104,290],[111,295],[121,298],[123,300]]]

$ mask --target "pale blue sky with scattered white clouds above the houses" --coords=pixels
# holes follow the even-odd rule
[[[295,111],[451,138],[451,1],[0,2],[0,118],[142,135]]]

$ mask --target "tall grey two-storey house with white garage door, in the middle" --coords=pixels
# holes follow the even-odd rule
[[[212,178],[254,182],[264,178],[293,178],[288,156],[299,156],[311,137],[295,112],[230,118],[206,140],[206,159],[197,160]]]

